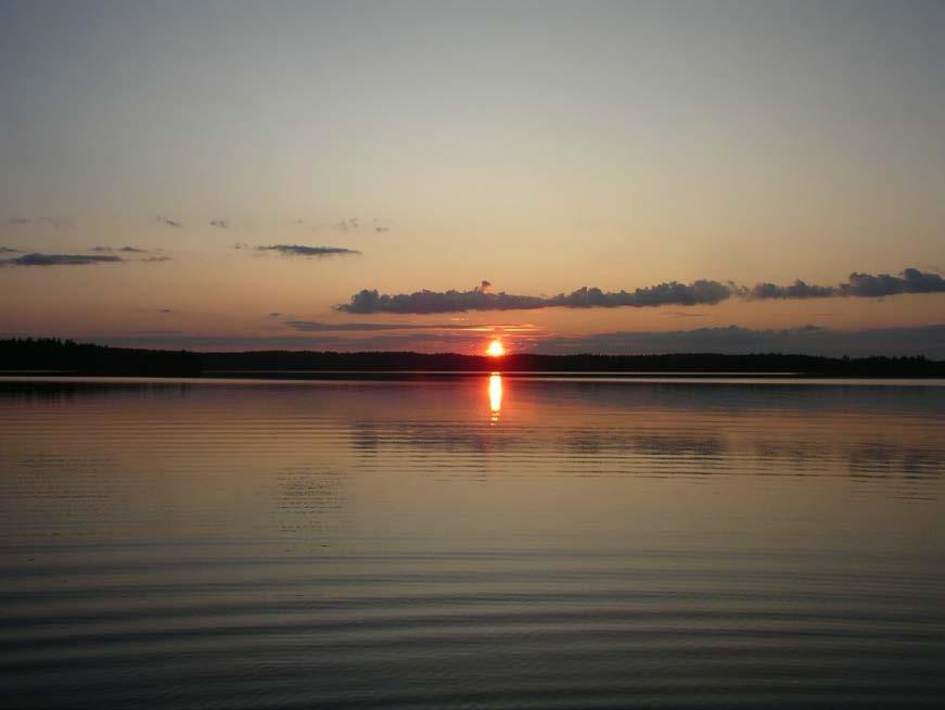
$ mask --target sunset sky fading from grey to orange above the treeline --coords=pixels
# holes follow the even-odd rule
[[[0,0],[0,337],[945,358],[942,37],[934,1]]]

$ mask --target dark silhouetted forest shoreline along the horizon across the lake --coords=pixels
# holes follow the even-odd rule
[[[501,358],[455,353],[254,351],[196,353],[76,343],[59,339],[0,340],[0,370],[63,375],[284,376],[291,371],[487,372],[783,372],[826,377],[945,377],[945,362],[924,357],[816,357],[764,353],[720,355],[529,355]]]

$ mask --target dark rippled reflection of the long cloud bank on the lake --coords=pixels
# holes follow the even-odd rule
[[[450,476],[477,474],[500,461],[508,472],[535,476],[582,470],[646,478],[848,476],[860,482],[921,484],[943,473],[945,444],[896,441],[898,432],[885,431],[880,417],[871,417],[874,421],[866,428],[859,421],[846,433],[843,419],[830,416],[822,417],[822,426],[797,415],[741,417],[731,430],[726,428],[730,417],[710,419],[715,427],[702,416],[678,411],[663,421],[642,413],[605,429],[561,421],[547,427],[506,421],[502,428],[482,421],[360,421],[352,429],[352,446],[375,457],[379,466],[388,460],[385,455],[406,457],[418,468],[429,458],[430,471],[437,473],[444,459],[434,454],[449,454]]]

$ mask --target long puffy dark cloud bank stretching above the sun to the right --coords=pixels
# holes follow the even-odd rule
[[[335,306],[344,313],[461,313],[465,310],[527,310],[534,308],[635,308],[665,305],[715,305],[730,297],[746,300],[823,299],[833,296],[879,297],[897,293],[945,293],[945,279],[937,274],[907,268],[899,276],[858,274],[854,271],[844,283],[815,286],[800,279],[790,286],[756,283],[754,287],[700,279],[692,283],[666,281],[634,291],[603,291],[580,288],[554,296],[513,295],[505,291],[493,293],[491,284],[483,281],[470,291],[414,291],[396,295],[380,294],[365,289],[349,303]]]

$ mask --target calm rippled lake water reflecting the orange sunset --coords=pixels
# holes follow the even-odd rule
[[[935,706],[945,388],[0,382],[5,707]]]

